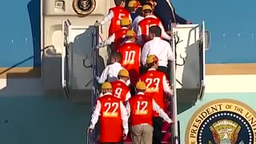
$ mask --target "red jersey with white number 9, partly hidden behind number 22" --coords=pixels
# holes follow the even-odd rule
[[[130,94],[130,88],[126,86],[125,82],[122,82],[120,80],[111,82],[111,85],[114,97],[120,98],[122,103],[125,103],[127,99],[126,96],[128,96],[127,93]]]

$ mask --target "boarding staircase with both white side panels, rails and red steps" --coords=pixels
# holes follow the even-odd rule
[[[98,85],[95,77],[99,76],[102,64],[99,64],[99,52],[94,46],[99,42],[99,28],[95,26],[72,26],[70,22],[63,21],[63,51],[62,51],[62,88],[67,98],[82,93],[82,98],[86,101],[90,99],[92,104],[91,110],[94,110],[95,99],[98,97]],[[76,43],[71,40],[70,31],[72,30],[86,31],[80,35],[92,35],[90,51],[83,47],[76,50]],[[166,98],[166,114],[174,119],[174,124],[164,123],[162,127],[162,143],[179,143],[177,106],[180,102],[196,102],[203,98],[205,88],[205,50],[209,46],[209,33],[202,26],[196,25],[178,25],[172,29],[173,40],[171,45],[175,52],[176,62],[172,62],[170,66],[171,85],[174,88],[174,97]],[[83,38],[83,37],[82,37]],[[88,39],[88,38],[87,38]],[[83,39],[81,39],[84,41]],[[71,44],[71,45],[70,45]],[[84,45],[82,45],[84,46]],[[83,67],[83,68],[82,68]],[[75,81],[74,81],[75,78]],[[89,83],[89,84],[87,84]],[[92,87],[92,90],[91,90]],[[90,94],[91,93],[91,94]],[[90,97],[86,95],[91,95]],[[89,98],[87,100],[87,98]],[[92,134],[88,134],[87,140],[89,144],[97,142],[98,131],[94,130]],[[132,143],[130,136],[126,138],[126,144]]]

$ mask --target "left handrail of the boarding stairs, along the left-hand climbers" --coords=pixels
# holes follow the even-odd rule
[[[98,21],[96,21],[98,22]],[[96,77],[98,76],[98,46],[99,42],[99,26],[94,26],[94,33],[92,34],[92,52],[93,52],[93,87],[91,92],[91,113],[94,111],[94,105],[96,104],[96,98],[98,97],[98,82],[96,81]],[[90,122],[89,122],[90,126]],[[97,135],[95,130],[92,133],[87,131],[87,144],[94,144]]]

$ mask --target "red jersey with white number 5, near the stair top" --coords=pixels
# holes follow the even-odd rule
[[[111,19],[109,36],[114,34],[115,31],[121,29],[121,19],[130,18],[130,12],[122,6],[115,6],[110,9],[114,14],[114,17]]]

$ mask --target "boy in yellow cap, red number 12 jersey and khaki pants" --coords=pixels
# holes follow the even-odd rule
[[[137,82],[134,97],[130,98],[126,105],[128,116],[131,122],[131,138],[134,144],[152,143],[153,138],[153,114],[156,111],[166,122],[172,120],[168,115],[154,102],[153,98],[145,95],[145,82]],[[161,143],[161,142],[160,142]]]

